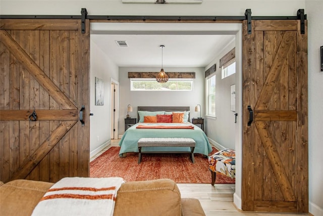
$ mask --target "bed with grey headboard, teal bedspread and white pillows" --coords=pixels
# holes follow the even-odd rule
[[[185,112],[186,119],[184,117],[184,120],[186,120],[184,123],[146,123],[142,122],[142,116],[147,113],[149,115],[150,112],[156,112],[156,113],[162,113],[164,111],[165,114],[170,114],[172,112]],[[189,118],[189,111],[190,107],[138,107],[138,123],[132,125],[127,129],[127,131],[122,136],[119,146],[120,157],[125,157],[127,152],[139,152],[138,151],[138,140],[140,138],[170,138],[170,137],[176,137],[176,138],[192,138],[195,140],[195,149],[194,153],[199,153],[205,156],[208,156],[208,154],[212,151],[212,147],[208,142],[208,139],[205,135],[205,133],[202,131],[202,129],[195,125],[190,123]],[[185,116],[184,115],[184,116]],[[141,122],[140,122],[141,121]],[[190,127],[193,127],[194,129],[183,129],[183,128],[177,128],[177,129],[170,129],[170,128],[137,128],[138,125],[171,125],[171,126],[182,126],[182,125],[189,125]],[[152,152],[174,152],[174,151],[190,151],[189,147],[146,147],[142,148],[142,151],[152,151]]]

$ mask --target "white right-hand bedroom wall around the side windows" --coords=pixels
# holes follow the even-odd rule
[[[212,144],[224,148],[235,148],[235,116],[230,111],[230,86],[236,84],[236,74],[222,79],[220,59],[235,48],[235,40],[227,45],[206,67],[217,64],[216,70],[216,118],[205,116],[205,131]],[[206,81],[206,80],[205,80]],[[206,100],[206,99],[205,99]],[[204,105],[205,106],[205,105]],[[214,143],[215,142],[215,143]]]

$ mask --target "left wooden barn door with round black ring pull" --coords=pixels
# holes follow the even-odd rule
[[[88,20],[0,22],[0,180],[88,177]]]

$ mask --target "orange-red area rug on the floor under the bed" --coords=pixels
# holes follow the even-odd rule
[[[138,153],[127,153],[119,157],[120,147],[111,147],[90,162],[90,177],[122,177],[126,182],[172,179],[176,183],[209,183],[211,172],[207,157],[194,154],[192,163],[189,154],[142,154],[138,164]],[[215,148],[210,153],[217,152]],[[217,175],[216,184],[235,184],[235,180]]]

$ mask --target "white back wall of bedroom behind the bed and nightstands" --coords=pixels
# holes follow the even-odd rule
[[[138,106],[189,106],[190,119],[199,117],[199,112],[195,112],[197,104],[204,104],[204,68],[167,68],[165,72],[195,72],[193,79],[193,91],[177,92],[177,91],[130,91],[130,78],[128,72],[159,72],[159,68],[154,67],[120,67],[119,83],[120,83],[120,122],[119,135],[125,131],[124,118],[127,115],[127,105],[131,104],[133,112],[129,113],[130,117],[137,118]],[[203,116],[203,107],[201,115]],[[137,119],[138,121],[138,119]]]

